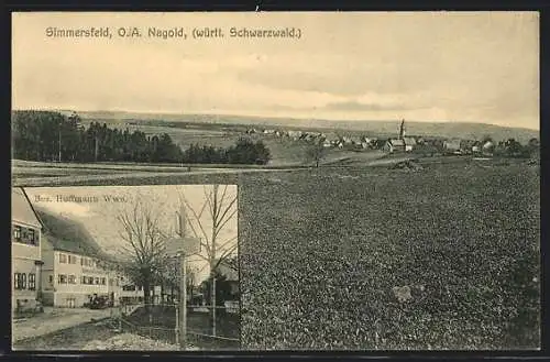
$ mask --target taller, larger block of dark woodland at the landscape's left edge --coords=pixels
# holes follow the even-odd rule
[[[131,133],[99,122],[85,128],[77,114],[52,111],[14,111],[12,141],[13,156],[28,161],[182,162],[183,155],[167,133]]]

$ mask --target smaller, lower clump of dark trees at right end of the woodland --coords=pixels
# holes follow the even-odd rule
[[[211,145],[191,144],[184,151],[184,163],[198,164],[256,164],[265,165],[271,160],[271,152],[262,141],[253,142],[241,138],[228,149]]]

